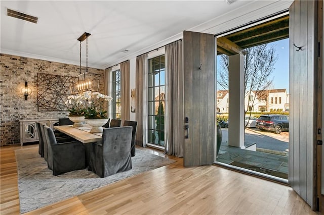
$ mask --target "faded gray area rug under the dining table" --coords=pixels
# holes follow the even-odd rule
[[[78,170],[53,176],[38,147],[15,150],[18,166],[20,212],[25,213],[104,185],[175,162],[172,159],[136,149],[132,170],[100,178],[91,171]]]

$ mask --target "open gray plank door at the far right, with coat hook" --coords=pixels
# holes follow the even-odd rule
[[[323,132],[318,2],[295,0],[289,15],[289,184],[313,210],[320,205]]]

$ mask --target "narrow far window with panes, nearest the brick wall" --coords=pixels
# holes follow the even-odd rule
[[[112,72],[112,118],[120,120],[120,70]]]

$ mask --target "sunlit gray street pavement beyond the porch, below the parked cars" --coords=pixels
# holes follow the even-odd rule
[[[228,129],[222,128],[222,133],[222,142],[228,142]],[[257,148],[287,152],[289,132],[275,134],[270,131],[260,131],[257,128],[247,128],[245,129],[245,142],[256,142]]]

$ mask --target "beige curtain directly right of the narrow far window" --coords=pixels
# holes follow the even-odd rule
[[[130,120],[130,61],[120,63],[121,75],[121,125]]]

